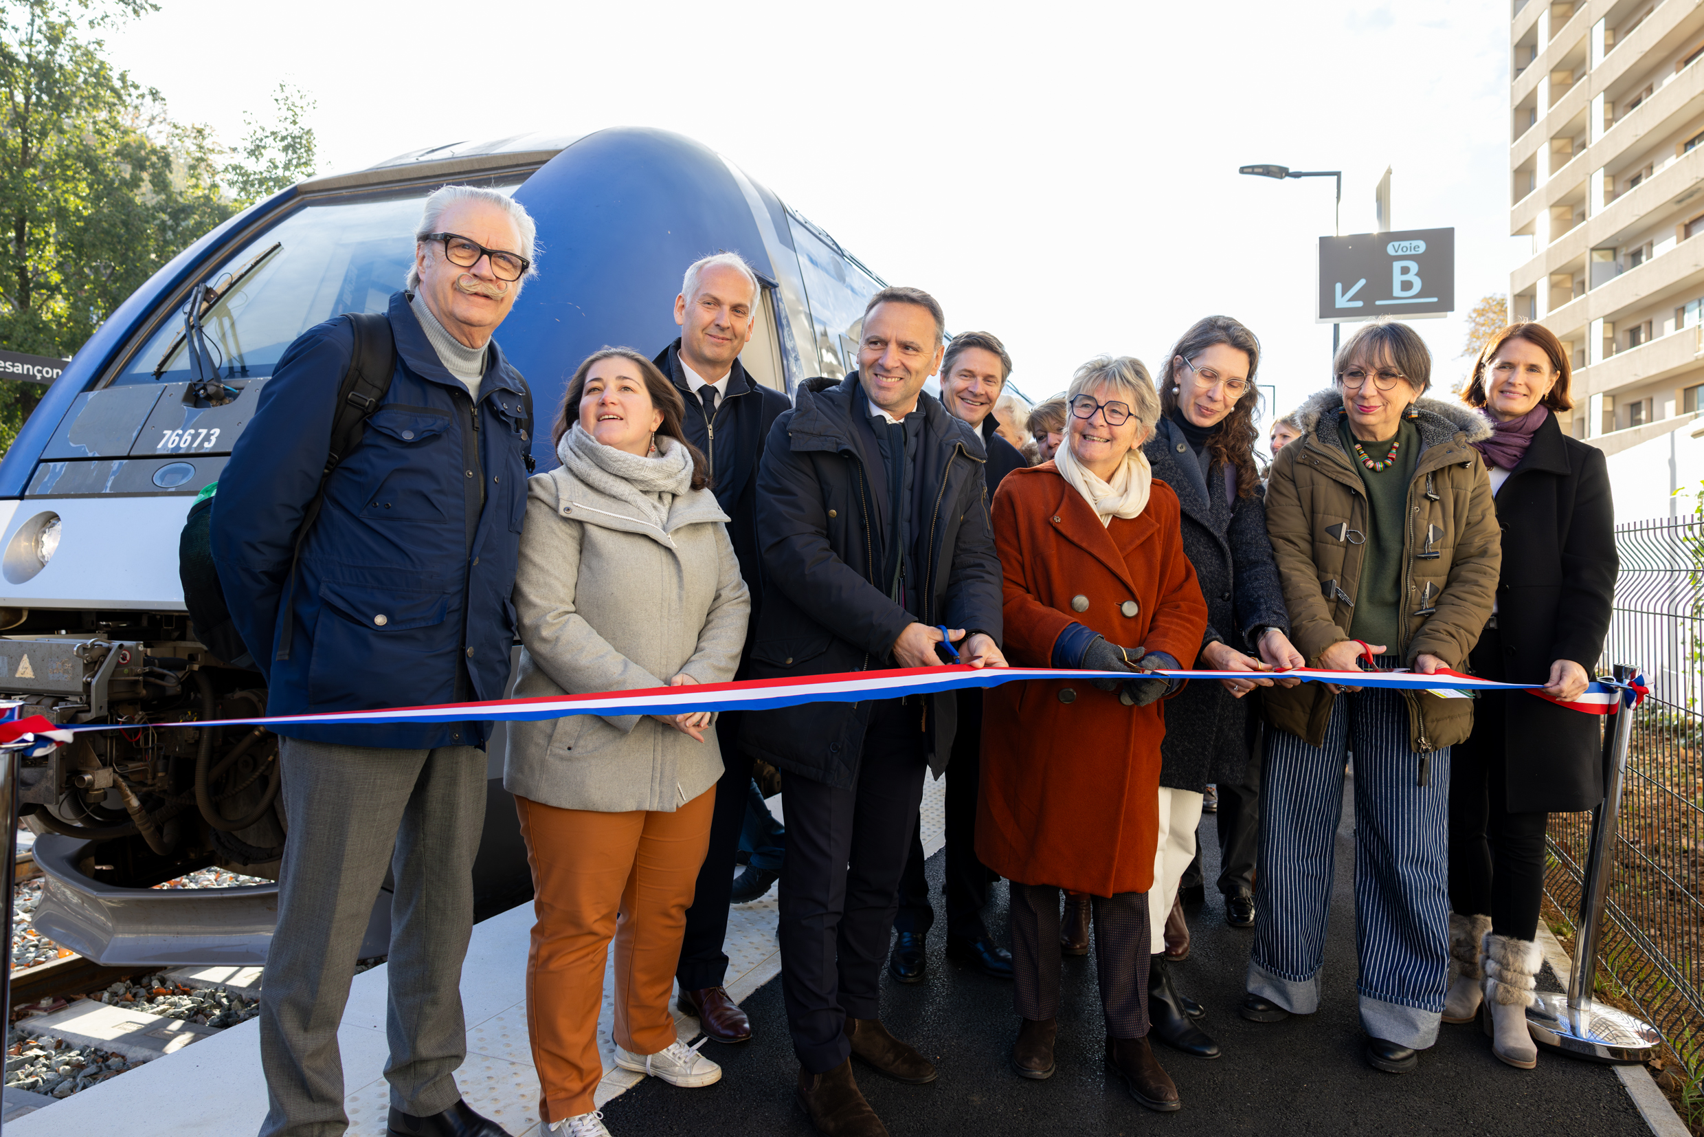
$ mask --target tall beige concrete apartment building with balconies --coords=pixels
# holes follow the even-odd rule
[[[1704,3],[1513,0],[1510,315],[1573,353],[1617,520],[1704,479]],[[1694,431],[1699,436],[1694,436]]]

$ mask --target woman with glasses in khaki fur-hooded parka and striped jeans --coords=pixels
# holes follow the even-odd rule
[[[1375,320],[1310,397],[1302,438],[1278,452],[1266,528],[1297,648],[1338,672],[1460,668],[1491,615],[1501,534],[1484,460],[1491,428],[1425,399],[1431,356],[1404,324]],[[1355,755],[1355,924],[1361,1053],[1414,1069],[1438,1038],[1448,989],[1450,747],[1474,701],[1426,690],[1300,684],[1263,692],[1266,769],[1254,955],[1242,1018],[1319,1009],[1319,967]]]

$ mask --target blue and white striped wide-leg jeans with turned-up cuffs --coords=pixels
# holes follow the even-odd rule
[[[1266,731],[1259,919],[1247,987],[1295,1014],[1319,1009],[1343,765],[1351,752],[1361,1028],[1421,1050],[1438,1038],[1448,989],[1450,748],[1428,755],[1409,748],[1399,692],[1338,695],[1321,747]],[[1419,784],[1421,759],[1430,767],[1426,784]]]

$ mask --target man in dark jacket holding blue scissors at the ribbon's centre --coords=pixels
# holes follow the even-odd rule
[[[941,661],[946,626],[966,663],[1005,667],[987,452],[924,394],[941,366],[941,305],[884,288],[864,310],[859,370],[799,392],[758,472],[769,592],[753,678]],[[903,1082],[935,1069],[883,1026],[881,965],[924,771],[953,752],[956,699],[908,695],[748,711],[757,755],[786,771],[780,982],[799,1103],[823,1132],[886,1134],[850,1055]]]

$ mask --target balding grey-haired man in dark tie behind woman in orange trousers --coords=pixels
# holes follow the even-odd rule
[[[763,564],[757,551],[757,467],[763,440],[787,397],[760,385],[740,365],[740,349],[763,310],[757,274],[736,252],[717,252],[687,269],[675,297],[680,339],[656,356],[658,368],[680,389],[687,404],[687,442],[711,460],[711,489],[729,517],[728,535],[740,557],[740,574],[751,590],[751,622],[738,678],[751,655],[751,632],[763,607]],[[722,987],[728,977],[728,902],[733,892],[734,851],[745,820],[751,757],[733,743],[740,736],[740,711],[717,719],[722,742],[722,777],[716,782],[711,846],[699,869],[699,886],[687,909],[687,934],[680,944],[675,978],[680,1011],[692,1014],[716,1042],[746,1042],[751,1021]]]

